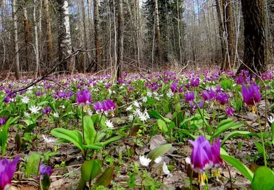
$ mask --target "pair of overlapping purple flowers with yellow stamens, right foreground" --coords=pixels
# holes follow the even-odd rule
[[[205,171],[208,169],[218,169],[223,166],[223,159],[221,158],[221,143],[219,138],[214,139],[212,145],[210,141],[203,135],[195,139],[195,141],[189,141],[193,146],[190,165],[192,169],[201,175],[201,183],[206,180]],[[189,158],[188,158],[189,159]]]

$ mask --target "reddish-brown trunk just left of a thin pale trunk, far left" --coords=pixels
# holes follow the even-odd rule
[[[25,54],[26,54],[26,68],[27,71],[29,71],[29,66],[30,66],[30,31],[29,31],[29,21],[27,20],[27,8],[23,8],[23,18],[24,18],[24,25],[25,25]]]

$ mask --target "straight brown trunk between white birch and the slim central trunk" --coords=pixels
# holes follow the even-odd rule
[[[99,0],[94,0],[94,24],[95,24],[95,72],[98,71],[98,64],[101,62],[101,44],[99,37]]]

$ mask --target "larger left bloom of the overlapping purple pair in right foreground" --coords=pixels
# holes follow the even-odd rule
[[[210,169],[213,165],[210,142],[201,135],[189,143],[193,146],[190,157],[192,169],[200,174]]]

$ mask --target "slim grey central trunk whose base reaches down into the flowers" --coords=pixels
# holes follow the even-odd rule
[[[123,43],[124,43],[124,18],[123,0],[118,0],[118,34],[117,34],[117,80],[122,76],[123,69]]]

